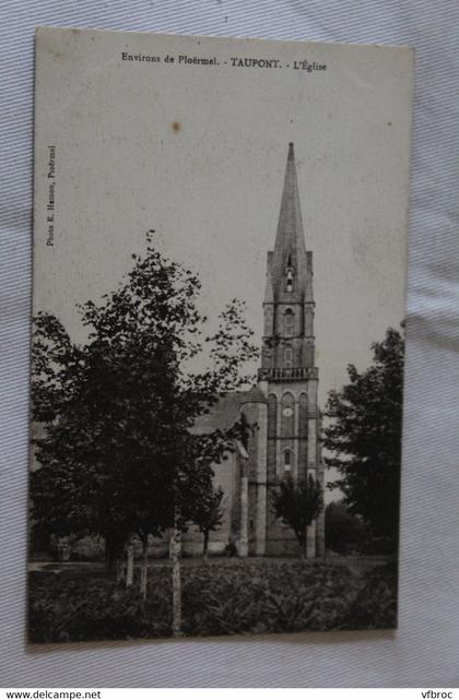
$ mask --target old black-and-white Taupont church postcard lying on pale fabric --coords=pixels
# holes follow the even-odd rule
[[[412,81],[37,31],[31,642],[396,627]]]

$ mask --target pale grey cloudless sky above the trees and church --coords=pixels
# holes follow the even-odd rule
[[[280,68],[237,68],[234,57]],[[327,68],[294,68],[305,60]],[[266,258],[293,141],[323,407],[348,364],[365,369],[370,344],[404,316],[411,61],[403,48],[42,31],[34,311],[56,313],[84,341],[75,304],[116,288],[155,229],[161,251],[200,275],[202,310],[213,319],[245,300],[261,342]]]

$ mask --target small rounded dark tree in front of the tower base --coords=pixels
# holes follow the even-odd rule
[[[275,518],[293,530],[306,556],[307,527],[323,509],[323,495],[319,482],[310,474],[301,482],[294,482],[289,477],[271,491],[271,505]]]

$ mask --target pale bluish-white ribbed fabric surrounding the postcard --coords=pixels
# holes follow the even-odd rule
[[[459,686],[459,3],[3,0],[0,15],[0,686]],[[37,25],[416,47],[397,632],[26,649]]]

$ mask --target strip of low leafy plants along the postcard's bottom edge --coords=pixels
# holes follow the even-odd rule
[[[375,629],[396,624],[397,577],[389,567],[357,576],[342,566],[292,560],[183,566],[187,636]],[[106,576],[35,572],[30,639],[66,642],[168,637],[170,567],[149,572],[149,595]]]

